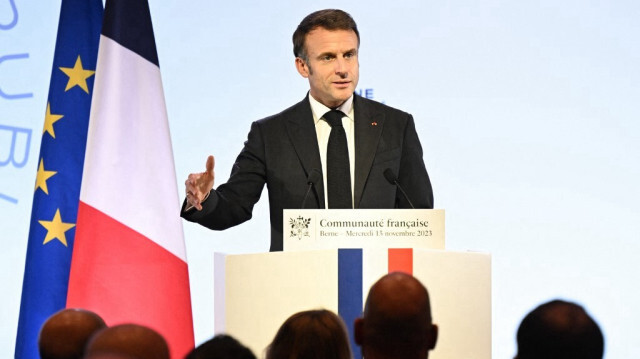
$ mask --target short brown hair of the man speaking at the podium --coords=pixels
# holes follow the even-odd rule
[[[352,30],[358,37],[360,45],[360,33],[358,26],[351,15],[338,9],[318,10],[307,15],[293,33],[293,55],[307,60],[305,38],[312,30],[321,27],[327,30]]]

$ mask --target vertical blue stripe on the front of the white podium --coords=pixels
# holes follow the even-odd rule
[[[338,249],[338,314],[347,326],[353,358],[361,358],[353,322],[362,314],[362,249]]]

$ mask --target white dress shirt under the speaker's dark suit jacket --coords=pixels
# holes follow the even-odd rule
[[[313,122],[316,125],[316,136],[318,136],[318,146],[320,147],[320,162],[322,163],[322,180],[324,181],[324,205],[327,208],[329,204],[329,196],[327,195],[327,144],[329,143],[329,135],[331,134],[331,126],[329,123],[322,119],[325,113],[331,111],[331,109],[309,94],[309,102],[311,103],[311,112],[313,113]],[[355,150],[355,136],[354,136],[354,112],[353,112],[353,95],[349,97],[340,107],[336,110],[342,111],[346,114],[342,118],[342,126],[344,132],[347,134],[347,148],[349,150],[349,173],[351,177],[351,207],[353,207],[353,186],[355,183],[355,163],[356,163],[356,150]]]

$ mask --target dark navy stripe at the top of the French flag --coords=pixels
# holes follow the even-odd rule
[[[160,66],[147,0],[110,0],[102,35]]]

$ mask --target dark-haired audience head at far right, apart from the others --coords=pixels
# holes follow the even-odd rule
[[[544,303],[524,317],[517,334],[518,359],[601,359],[604,337],[581,306]]]

